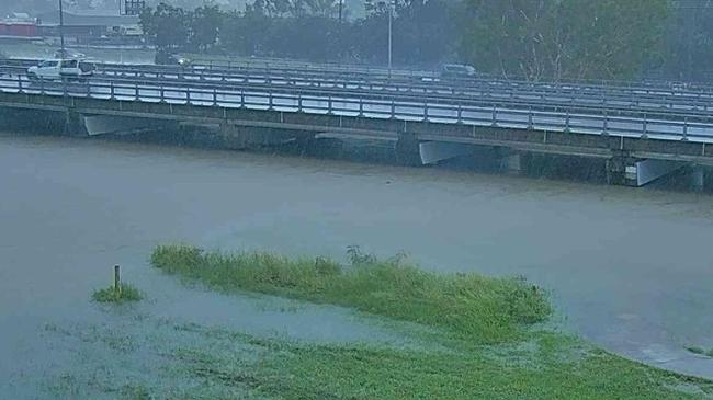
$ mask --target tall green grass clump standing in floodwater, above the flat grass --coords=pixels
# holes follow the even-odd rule
[[[404,262],[380,260],[350,248],[351,265],[325,258],[267,252],[224,254],[191,245],[159,245],[151,264],[167,273],[224,290],[249,290],[442,328],[478,343],[514,340],[521,328],[545,320],[543,292],[522,278],[435,274]]]

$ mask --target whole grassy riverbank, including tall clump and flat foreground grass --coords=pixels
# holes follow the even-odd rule
[[[522,279],[433,274],[401,258],[378,260],[353,251],[349,259],[350,265],[341,266],[326,258],[157,248],[151,264],[184,283],[351,307],[380,316],[382,323],[411,323],[398,330],[418,343],[319,344],[177,325],[173,330],[192,341],[165,354],[161,369],[170,372],[166,379],[193,382],[180,392],[190,398],[713,397],[711,381],[624,359],[543,324],[551,313],[544,292]],[[174,336],[148,341],[158,347]],[[116,345],[116,340],[98,341]],[[161,379],[144,378],[115,390],[127,398],[160,398],[166,386]],[[79,392],[88,392],[92,384],[73,376],[69,380],[68,388]],[[63,393],[60,386],[55,390]]]

